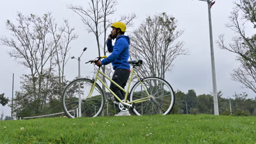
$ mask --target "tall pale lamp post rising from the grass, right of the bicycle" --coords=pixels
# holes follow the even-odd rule
[[[211,18],[211,6],[215,3],[210,0],[198,0],[204,1],[208,4],[208,17],[209,17],[209,30],[210,30],[210,46],[211,46],[211,62],[212,62],[212,86],[213,86],[213,104],[214,104],[214,115],[219,115],[218,97],[217,97],[217,86],[216,86],[216,72],[214,63],[214,51],[213,51],[213,40],[212,40],[212,18]]]

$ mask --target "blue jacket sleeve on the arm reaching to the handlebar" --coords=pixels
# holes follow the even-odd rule
[[[125,43],[123,41],[123,38],[119,39],[115,42],[115,46],[113,47],[113,52],[111,55],[109,55],[107,58],[103,59],[101,63],[103,65],[107,65],[109,63],[112,63],[119,57],[121,52],[125,49]]]

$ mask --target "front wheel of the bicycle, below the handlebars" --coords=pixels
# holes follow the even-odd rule
[[[90,79],[77,79],[67,85],[62,94],[62,107],[69,118],[96,117],[104,107],[104,94],[96,83],[90,97],[94,82]]]

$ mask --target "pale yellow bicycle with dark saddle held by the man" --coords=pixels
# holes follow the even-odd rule
[[[97,57],[97,61],[106,57],[107,56]],[[91,60],[86,63],[94,63],[94,61]],[[114,101],[114,104],[119,105],[121,111],[132,109],[138,116],[155,114],[167,115],[174,106],[174,92],[171,85],[159,77],[146,77],[141,79],[135,73],[135,67],[139,67],[143,63],[141,59],[128,61],[127,63],[132,65],[132,69],[126,90],[107,75],[103,74],[100,70],[101,67],[98,67],[94,79],[81,78],[70,82],[62,94],[62,107],[67,117],[97,117],[100,115],[104,107],[104,93],[97,81],[100,81],[119,101]],[[119,99],[117,95],[111,91],[106,83],[100,79],[99,74],[106,77],[106,79],[113,82],[114,85],[125,92],[124,100]],[[138,81],[133,85],[129,93],[133,75],[136,76]],[[130,97],[130,100],[127,100],[128,97]]]

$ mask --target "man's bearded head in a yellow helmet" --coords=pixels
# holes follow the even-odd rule
[[[113,38],[117,38],[118,35],[123,35],[125,33],[126,26],[124,22],[114,22],[111,27],[111,35]]]

